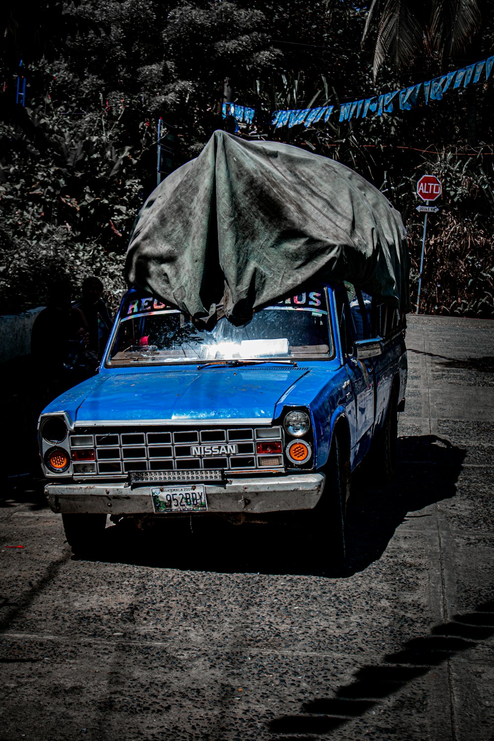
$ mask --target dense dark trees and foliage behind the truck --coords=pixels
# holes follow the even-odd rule
[[[42,304],[60,271],[78,284],[100,276],[115,302],[130,228],[156,185],[158,118],[176,134],[178,166],[213,130],[230,126],[220,115],[226,94],[265,112],[239,136],[308,147],[387,194],[407,221],[413,301],[422,229],[415,182],[438,175],[443,208],[429,219],[421,309],[494,316],[494,73],[441,102],[381,117],[340,124],[333,114],[328,124],[273,130],[269,115],[368,97],[484,59],[493,53],[487,13],[463,51],[431,41],[404,68],[392,57],[374,63],[372,24],[361,48],[370,3],[26,0],[22,14],[13,0],[6,7],[1,313]],[[25,107],[16,104],[19,59]]]

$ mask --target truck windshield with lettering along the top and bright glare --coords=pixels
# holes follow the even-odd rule
[[[131,294],[121,310],[107,365],[252,359],[324,359],[332,356],[327,297],[301,293],[256,311],[236,326],[225,317],[211,330],[152,296]]]

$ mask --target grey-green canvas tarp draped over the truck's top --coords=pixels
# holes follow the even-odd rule
[[[401,216],[333,159],[216,131],[144,204],[127,281],[196,318],[234,321],[309,279],[353,282],[410,310]]]

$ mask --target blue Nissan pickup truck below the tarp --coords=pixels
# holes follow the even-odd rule
[[[45,492],[75,554],[107,515],[295,511],[344,552],[351,472],[393,474],[404,315],[349,283],[308,285],[212,328],[156,296],[121,302],[99,372],[41,413]]]

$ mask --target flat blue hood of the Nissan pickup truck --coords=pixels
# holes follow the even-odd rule
[[[309,370],[250,365],[109,373],[81,402],[76,422],[273,419],[278,399]]]

